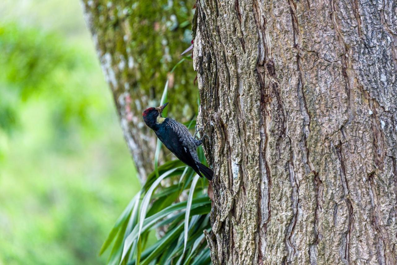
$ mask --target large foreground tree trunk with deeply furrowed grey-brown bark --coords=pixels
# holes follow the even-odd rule
[[[214,264],[397,264],[397,2],[197,1]]]

